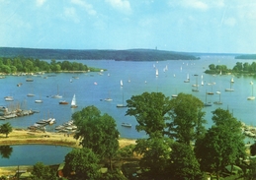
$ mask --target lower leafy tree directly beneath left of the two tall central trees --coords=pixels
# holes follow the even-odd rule
[[[142,157],[139,161],[142,179],[165,179],[170,161],[172,141],[169,138],[153,137],[136,141],[134,151]]]

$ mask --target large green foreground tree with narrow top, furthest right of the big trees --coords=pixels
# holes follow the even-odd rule
[[[241,134],[241,123],[228,110],[213,111],[214,125],[206,136],[196,142],[196,154],[201,168],[218,175],[226,165],[239,164],[245,157],[245,146]]]

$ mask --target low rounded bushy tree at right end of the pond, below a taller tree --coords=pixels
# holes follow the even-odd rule
[[[92,150],[73,149],[65,156],[63,173],[73,180],[98,179],[100,177],[99,161],[99,157]]]

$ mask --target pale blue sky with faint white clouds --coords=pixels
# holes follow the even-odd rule
[[[0,46],[256,53],[256,1],[0,0]]]

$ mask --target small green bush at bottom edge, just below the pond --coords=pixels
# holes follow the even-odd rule
[[[37,162],[33,166],[32,174],[34,175],[35,180],[56,180],[57,177],[55,172],[49,168],[49,166],[44,165],[43,162]]]

